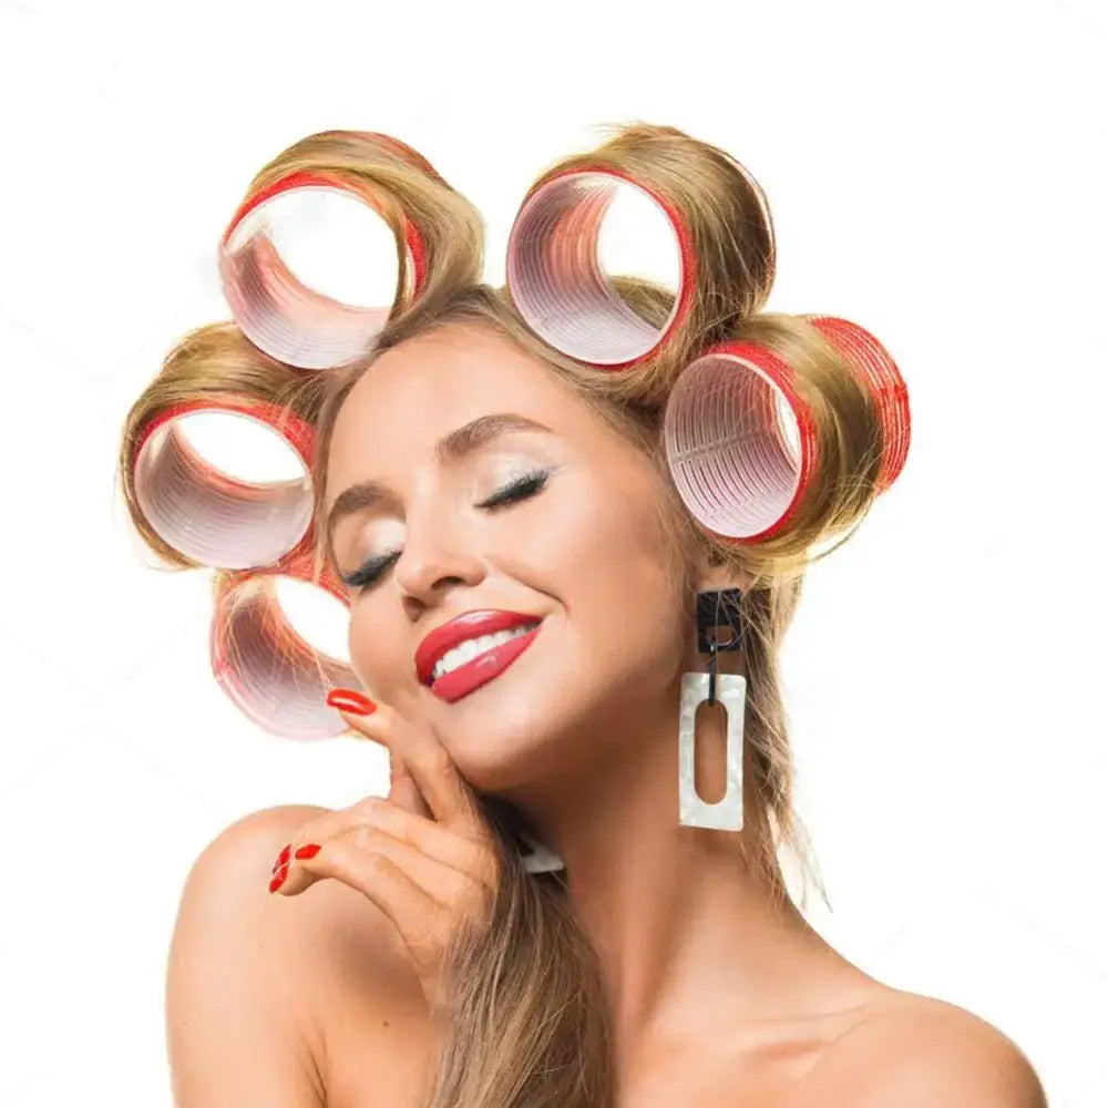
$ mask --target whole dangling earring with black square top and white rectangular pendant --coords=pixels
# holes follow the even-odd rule
[[[697,593],[697,648],[709,657],[706,674],[681,675],[678,810],[685,827],[742,830],[742,720],[747,679],[739,674],[716,673],[716,658],[720,650],[742,649],[741,596],[738,588]],[[716,628],[722,626],[731,630],[731,637],[726,643],[716,639]],[[721,800],[709,804],[696,791],[693,756],[697,708],[705,700],[715,705],[717,698],[727,714],[727,791]]]

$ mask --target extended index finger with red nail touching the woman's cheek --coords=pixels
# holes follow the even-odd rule
[[[469,784],[430,728],[410,724],[387,704],[378,702],[369,716],[338,711],[355,730],[388,747],[403,761],[437,820],[481,837],[488,833]]]

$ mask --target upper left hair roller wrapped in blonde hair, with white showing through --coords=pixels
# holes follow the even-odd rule
[[[353,306],[294,276],[271,228],[283,218],[276,202],[300,191],[360,202],[388,224],[399,263],[391,304]],[[219,275],[236,322],[258,349],[300,369],[329,369],[366,353],[386,322],[416,304],[479,279],[482,238],[478,212],[410,146],[325,131],[283,151],[250,183],[220,239]],[[342,252],[336,242],[336,256]]]

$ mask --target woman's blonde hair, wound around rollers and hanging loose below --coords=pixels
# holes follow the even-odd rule
[[[327,143],[300,144],[300,148],[322,152],[322,167],[330,164],[328,157],[334,161]],[[773,276],[769,208],[729,155],[675,129],[648,124],[620,129],[602,150],[615,151],[626,165],[644,173],[654,164],[652,156],[665,152],[683,182],[680,202],[686,214],[694,215],[697,248],[722,259],[717,268],[726,280],[711,287],[710,297],[699,304],[680,338],[685,343],[680,357],[654,359],[639,371],[633,367],[613,372],[582,365],[531,330],[510,290],[470,280],[439,284],[413,304],[399,307],[365,359],[328,372],[291,369],[256,350],[234,324],[214,324],[178,343],[162,373],[132,407],[121,451],[124,496],[151,546],[173,564],[195,564],[167,550],[144,520],[130,481],[134,444],[154,414],[183,394],[264,393],[267,404],[277,403],[316,429],[312,495],[318,523],[336,416],[373,360],[435,327],[469,322],[494,329],[568,381],[599,418],[626,434],[654,463],[659,511],[671,524],[673,564],[681,574],[690,620],[694,552],[706,550],[715,564],[750,576],[751,586],[741,601],[748,680],[743,766],[747,793],[755,802],[747,810],[743,853],[751,871],[780,899],[787,894],[779,880],[778,853],[791,850],[801,864],[806,888],[813,878],[827,902],[808,833],[793,811],[779,652],[800,598],[806,567],[835,548],[813,556],[812,547],[856,527],[880,491],[886,432],[856,367],[808,318],[759,310]],[[342,147],[342,157],[343,164],[357,168],[351,164],[357,162],[356,148]],[[582,155],[582,161],[591,158]],[[310,160],[307,167],[314,167]],[[398,162],[393,173],[397,187],[403,191],[406,176],[418,175],[420,168]],[[453,205],[456,220],[456,194]],[[728,230],[736,225],[746,228],[742,235]],[[474,265],[469,268],[472,271]],[[669,290],[627,279],[616,285],[633,309],[655,326],[669,314],[674,302]],[[820,480],[802,511],[790,527],[761,543],[730,542],[699,526],[685,510],[664,463],[660,428],[668,387],[690,351],[720,339],[758,343],[789,365],[810,408],[821,451]],[[314,534],[314,558],[318,576],[329,560],[319,526]],[[614,1098],[612,1015],[596,952],[575,917],[564,875],[524,870],[515,837],[521,813],[495,798],[479,799],[499,843],[501,883],[488,926],[459,930],[448,953],[453,1019],[428,1075],[424,1108],[607,1106]]]

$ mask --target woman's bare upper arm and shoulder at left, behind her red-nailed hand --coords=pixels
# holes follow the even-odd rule
[[[254,812],[223,831],[189,871],[165,996],[176,1108],[326,1105],[297,956],[302,917],[268,890],[286,835],[318,811]]]

